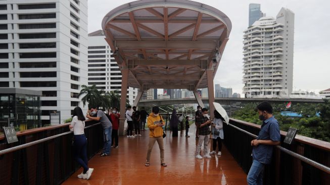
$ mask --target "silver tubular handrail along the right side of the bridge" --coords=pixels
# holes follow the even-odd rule
[[[240,131],[242,131],[242,132],[244,132],[244,133],[246,133],[246,134],[248,134],[248,135],[250,135],[250,136],[252,136],[252,137],[254,137],[254,138],[257,138],[257,137],[258,137],[257,135],[255,135],[255,134],[253,134],[253,133],[250,133],[250,132],[248,132],[248,131],[246,131],[246,130],[244,130],[244,129],[242,129],[242,128],[239,128],[239,127],[237,127],[237,126],[235,126],[235,125],[232,125],[232,124],[230,124],[230,123],[228,123],[228,125],[231,126],[231,127],[233,127],[233,128],[235,128],[235,129],[238,129],[238,130],[240,130]],[[277,147],[279,150],[281,150],[282,152],[285,152],[285,153],[291,155],[292,157],[295,157],[295,158],[297,158],[297,159],[299,159],[299,160],[301,160],[301,161],[304,161],[304,162],[306,162],[307,164],[310,164],[310,165],[312,165],[312,166],[314,166],[314,167],[316,167],[316,168],[318,168],[318,169],[320,169],[320,170],[322,170],[322,171],[324,171],[324,172],[330,174],[330,168],[329,168],[329,167],[327,167],[327,166],[325,166],[325,165],[323,165],[323,164],[320,164],[320,163],[318,163],[318,162],[316,162],[316,161],[313,161],[313,160],[311,160],[311,159],[309,159],[309,158],[306,158],[305,156],[302,156],[302,155],[300,155],[300,154],[297,154],[297,153],[295,153],[295,152],[292,152],[292,151],[290,151],[290,150],[288,150],[288,149],[286,149],[286,148],[283,148],[283,147],[281,147],[281,146],[278,146],[278,145],[277,145],[276,147]]]

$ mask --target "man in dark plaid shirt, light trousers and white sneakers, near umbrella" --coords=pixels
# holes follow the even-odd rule
[[[203,157],[211,158],[208,147],[207,147],[209,140],[210,140],[211,120],[209,119],[210,116],[207,114],[207,111],[208,110],[206,108],[203,108],[202,116],[197,118],[197,120],[196,120],[196,126],[199,129],[198,145],[196,148],[196,158],[197,159],[203,159],[200,154],[203,142],[204,142],[204,156]]]

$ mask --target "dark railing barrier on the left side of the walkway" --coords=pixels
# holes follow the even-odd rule
[[[90,159],[103,147],[103,128],[95,121],[85,122],[87,157]],[[2,184],[61,184],[79,164],[73,158],[73,132],[68,125],[40,128],[18,134],[19,142],[7,144],[0,140]]]

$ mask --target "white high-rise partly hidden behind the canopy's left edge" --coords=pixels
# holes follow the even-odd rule
[[[121,95],[121,72],[102,30],[88,34],[88,85]],[[128,79],[129,80],[129,79]],[[132,105],[137,88],[128,87],[127,97]]]

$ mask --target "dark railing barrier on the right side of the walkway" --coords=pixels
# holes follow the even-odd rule
[[[223,129],[226,148],[248,173],[252,165],[251,141],[257,138],[260,125],[230,119],[229,124],[224,124]],[[301,136],[297,137],[289,145],[284,143],[284,133],[281,134],[281,144],[274,147],[271,163],[265,166],[263,184],[328,184],[330,182],[328,145],[324,147],[320,145],[321,141],[307,137],[306,140],[302,140]]]

